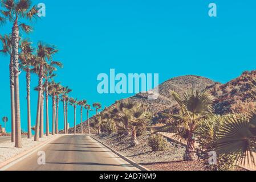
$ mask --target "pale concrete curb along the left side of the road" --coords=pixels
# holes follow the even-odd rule
[[[34,151],[38,150],[40,147],[42,147],[42,146],[52,142],[53,140],[56,140],[56,139],[58,139],[60,137],[63,137],[63,136],[64,135],[56,135],[56,137],[53,137],[50,140],[46,140],[43,143],[40,143],[37,146],[32,147],[29,150],[26,150],[26,151],[22,152],[21,154],[18,154],[16,156],[14,156],[13,158],[5,160],[4,162],[0,163],[0,171],[4,171],[2,168],[4,168],[5,166],[7,166],[7,165],[9,165],[9,164],[11,164],[13,162],[15,162],[15,160],[21,159],[22,157],[24,157],[25,155],[29,154],[30,152],[34,152]]]

